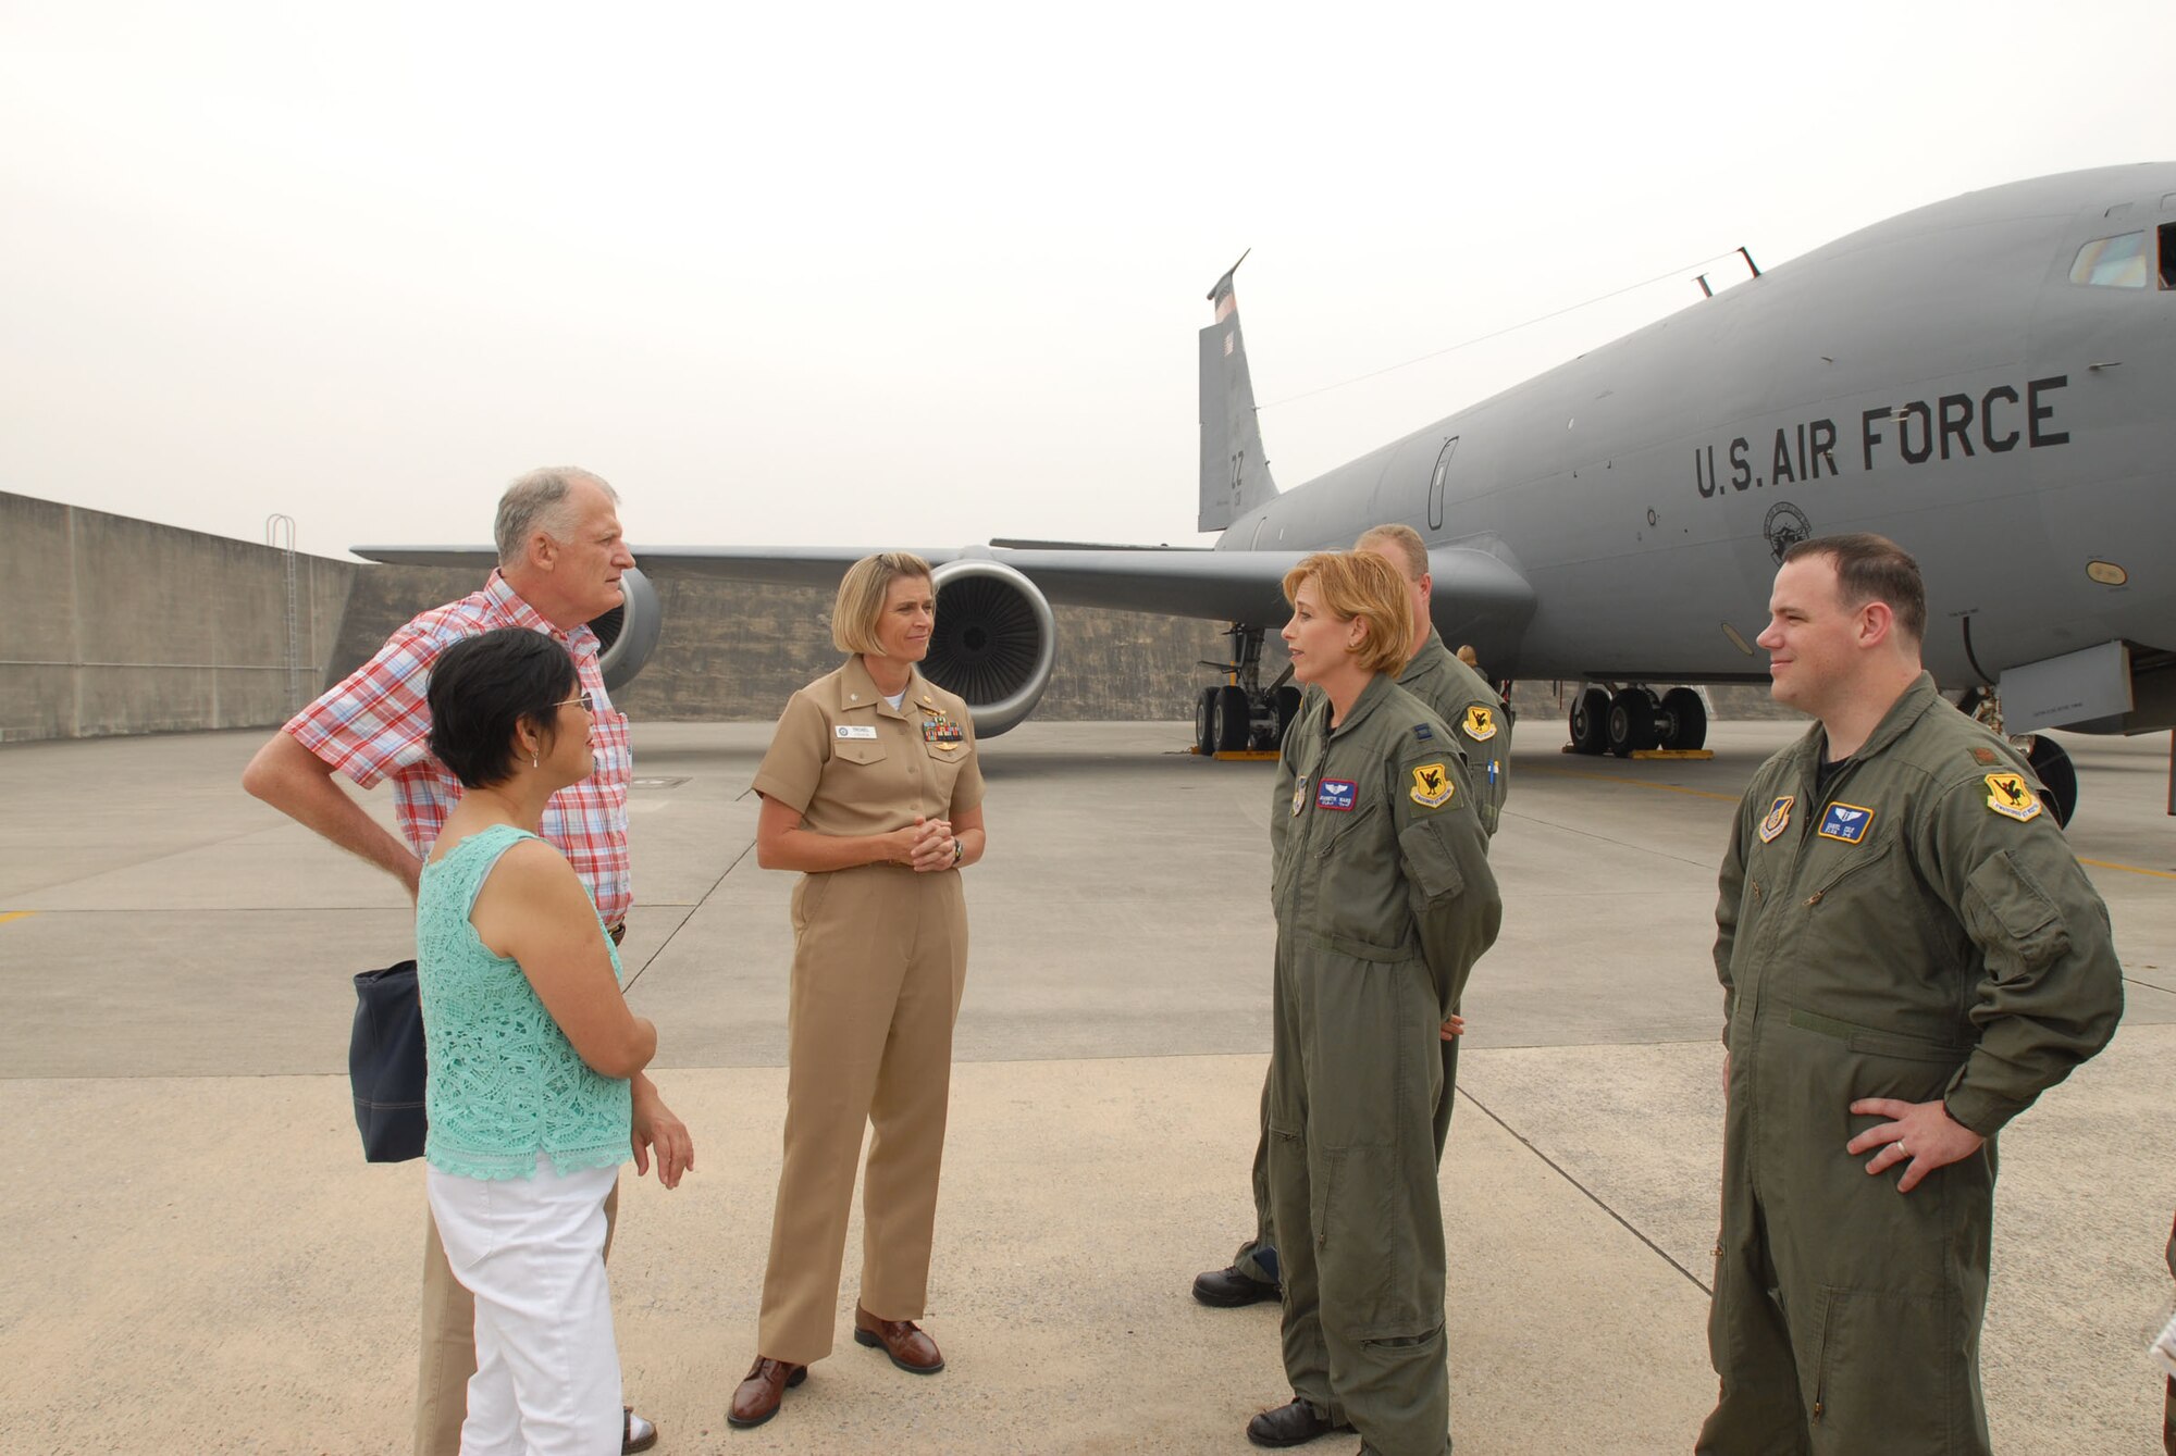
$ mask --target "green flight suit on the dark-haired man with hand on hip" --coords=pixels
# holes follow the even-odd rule
[[[1769,758],[1721,869],[1730,1102],[1697,1452],[1985,1456],[1995,1134],[2115,1032],[2122,967],[2024,758],[1926,674],[1815,774]],[[1897,1193],[1856,1097],[1943,1100],[1987,1137]]]

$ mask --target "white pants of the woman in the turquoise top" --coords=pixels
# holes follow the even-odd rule
[[[477,1295],[461,1456],[618,1456],[620,1350],[605,1284],[605,1193],[620,1169],[459,1178],[429,1169],[446,1263]]]

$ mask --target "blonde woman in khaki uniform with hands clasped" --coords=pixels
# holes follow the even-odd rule
[[[984,852],[966,704],[914,669],[929,652],[929,565],[857,561],[831,641],[846,663],[786,704],[755,771],[755,861],[799,869],[788,1011],[786,1158],[757,1358],[727,1421],[759,1426],[831,1354],[862,1130],[862,1297],[853,1336],[899,1369],[944,1369],[916,1328],[944,1154],[951,1034],[966,984],[957,869]]]

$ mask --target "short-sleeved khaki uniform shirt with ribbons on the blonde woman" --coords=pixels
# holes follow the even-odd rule
[[[755,791],[818,834],[890,834],[981,806],[966,704],[918,669],[894,708],[860,656],[786,702]]]

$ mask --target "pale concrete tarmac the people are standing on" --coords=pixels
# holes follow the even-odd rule
[[[1443,1167],[1460,1456],[1682,1452],[1715,1399],[1715,863],[1791,732],[1717,724],[1708,763],[1617,763],[1521,724],[1504,939],[1467,997]],[[239,791],[261,737],[0,750],[0,1452],[407,1449],[422,1165],[361,1163],[346,978],[407,956],[411,917]],[[1186,739],[1027,724],[984,748],[925,1321],[949,1369],[851,1343],[855,1237],[840,1347],[779,1419],[731,1432],[779,1163],[790,876],[751,854],[768,726],[635,728],[629,995],[696,1137],[679,1191],[625,1173],[611,1260],[659,1452],[1236,1456],[1288,1399],[1277,1310],[1188,1297],[1251,1221],[1273,765]],[[2176,1210],[2167,739],[2065,743],[2128,1013],[2004,1134],[1982,1365],[1998,1449],[2146,1456]]]

